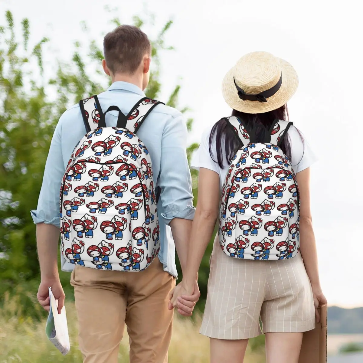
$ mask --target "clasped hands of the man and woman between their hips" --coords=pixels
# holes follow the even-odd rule
[[[187,284],[181,281],[169,295],[168,309],[177,308],[180,315],[185,317],[191,316],[199,297],[200,291],[197,281],[195,281],[193,286],[187,286]]]

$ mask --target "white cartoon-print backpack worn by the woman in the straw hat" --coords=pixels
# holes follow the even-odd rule
[[[276,120],[270,140],[250,138],[237,117],[225,118],[241,147],[222,188],[219,242],[227,256],[284,260],[299,250],[299,189],[280,144],[292,122]]]

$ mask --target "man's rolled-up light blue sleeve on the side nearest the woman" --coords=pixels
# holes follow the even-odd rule
[[[174,218],[194,218],[192,178],[187,159],[188,130],[183,115],[170,118],[164,127],[159,187],[164,222]]]

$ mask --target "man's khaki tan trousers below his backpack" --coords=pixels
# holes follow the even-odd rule
[[[141,272],[76,266],[71,285],[83,363],[116,363],[125,323],[130,363],[167,363],[173,320],[168,295],[175,278],[157,257]]]

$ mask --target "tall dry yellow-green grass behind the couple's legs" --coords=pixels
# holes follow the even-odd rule
[[[66,302],[71,341],[71,350],[66,356],[62,356],[46,338],[46,319],[43,318],[39,322],[30,317],[24,317],[21,314],[22,309],[19,304],[19,296],[10,297],[9,294],[5,295],[0,311],[1,363],[82,362],[82,355],[77,346],[77,316],[74,302]],[[176,314],[169,350],[169,363],[209,362],[209,339],[199,334],[200,323],[200,314],[196,315],[194,321],[180,318]],[[129,362],[129,339],[126,330],[120,345],[118,358],[120,363]],[[264,352],[261,348],[257,348],[254,352],[252,352],[251,347],[248,348],[245,363],[252,362],[265,362]]]

